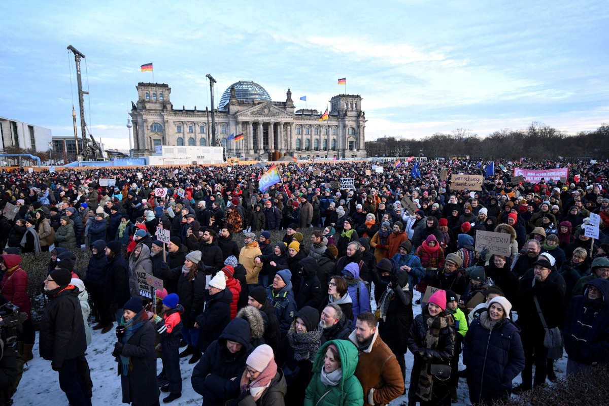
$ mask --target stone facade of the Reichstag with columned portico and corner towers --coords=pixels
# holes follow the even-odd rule
[[[235,86],[225,92],[228,102],[214,112],[216,142],[212,140],[211,111],[175,110],[171,88],[163,83],[138,83],[138,102],[132,102],[135,155],[150,155],[155,145],[217,145],[226,147],[228,156],[245,155],[278,159],[362,158],[365,156],[365,116],[362,97],[339,94],[330,100],[329,118],[319,121],[323,112],[295,111],[292,92],[285,102],[238,99]],[[256,83],[253,83],[256,85]],[[256,85],[259,86],[259,85]],[[262,89],[262,88],[261,88]],[[264,91],[264,89],[262,89]],[[266,93],[266,91],[264,91]],[[228,141],[233,134],[243,134],[242,141]],[[328,150],[329,147],[329,150]]]

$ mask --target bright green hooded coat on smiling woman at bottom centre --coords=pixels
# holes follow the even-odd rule
[[[339,350],[342,368],[342,379],[334,387],[323,384],[321,380],[323,360],[331,344],[336,345]],[[305,391],[305,406],[363,406],[364,390],[354,375],[357,360],[357,348],[351,341],[331,340],[323,344],[315,355],[315,373]],[[329,393],[323,396],[328,391]],[[319,402],[322,396],[323,399]]]

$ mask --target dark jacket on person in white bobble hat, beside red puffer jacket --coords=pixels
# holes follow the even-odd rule
[[[199,351],[207,351],[211,342],[217,340],[220,333],[228,325],[231,301],[233,301],[233,293],[228,289],[224,289],[213,296],[205,291],[205,310],[203,308],[194,309],[195,311],[202,311],[195,318],[195,321],[199,324],[199,341],[197,341]]]

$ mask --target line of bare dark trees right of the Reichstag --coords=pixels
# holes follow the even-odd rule
[[[594,131],[569,135],[538,122],[525,130],[504,129],[482,137],[458,128],[450,134],[435,133],[420,139],[379,138],[366,141],[368,156],[426,156],[453,158],[469,155],[471,159],[557,159],[609,158],[609,124]]]

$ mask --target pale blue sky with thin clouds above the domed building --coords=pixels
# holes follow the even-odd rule
[[[308,108],[323,111],[344,91],[337,79],[347,77],[347,93],[364,99],[367,139],[456,128],[486,136],[533,121],[576,133],[609,122],[609,9],[599,1],[33,1],[2,8],[0,116],[71,135],[72,44],[86,55],[87,124],[112,148],[128,148],[135,86],[152,81],[139,66],[151,61],[155,82],[172,88],[174,108],[204,110],[211,73],[216,103],[231,83],[253,80],[273,100],[285,100],[290,88],[297,108],[306,95]]]

